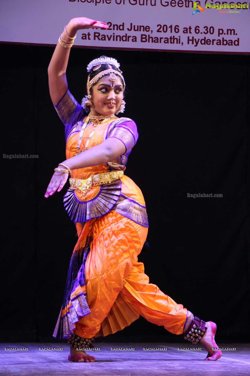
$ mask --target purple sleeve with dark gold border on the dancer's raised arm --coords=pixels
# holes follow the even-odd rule
[[[65,138],[72,128],[79,120],[82,120],[87,112],[82,108],[77,100],[72,96],[69,89],[67,89],[64,96],[60,99],[56,106],[54,106],[61,121],[65,125]]]

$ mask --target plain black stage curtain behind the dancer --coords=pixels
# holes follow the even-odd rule
[[[2,341],[49,341],[76,230],[64,190],[44,198],[64,160],[64,127],[49,98],[52,47],[0,45]],[[249,339],[249,56],[73,48],[67,78],[78,102],[86,66],[121,62],[126,112],[139,139],[126,173],[147,204],[150,282],[204,320],[219,341]],[[6,158],[6,155],[38,158]],[[5,158],[4,158],[5,155]],[[188,197],[188,194],[223,197]],[[106,341],[182,341],[143,318]]]

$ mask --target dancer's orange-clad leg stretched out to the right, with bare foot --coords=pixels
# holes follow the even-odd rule
[[[174,334],[181,334],[185,329],[186,332],[190,330],[193,314],[162,293],[156,285],[149,284],[148,277],[144,274],[143,264],[135,262],[130,274],[124,279],[123,285],[124,289],[120,294],[136,312],[148,321],[163,325]],[[184,324],[186,324],[185,329]],[[208,351],[205,360],[217,360],[222,356],[222,352],[214,350],[218,348],[214,340],[216,324],[208,321],[203,325],[206,329],[204,329],[203,337],[200,337],[200,343]]]

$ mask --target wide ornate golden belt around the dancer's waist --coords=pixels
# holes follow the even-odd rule
[[[77,179],[76,177],[70,177],[69,189],[77,190],[79,193],[85,195],[93,186],[112,183],[121,176],[123,176],[123,171],[115,170],[103,172],[101,174],[94,174],[88,177],[88,179]]]

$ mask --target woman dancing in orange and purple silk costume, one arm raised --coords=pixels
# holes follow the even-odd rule
[[[138,133],[133,120],[116,116],[125,107],[120,64],[106,56],[88,64],[81,105],[68,90],[70,47],[78,30],[91,27],[108,29],[105,22],[73,18],[48,68],[51,99],[65,125],[66,160],[55,168],[45,197],[61,191],[70,175],[63,201],[78,232],[54,337],[67,338],[69,360],[93,362],[84,350],[93,348],[94,337],[120,331],[142,315],[193,344],[200,342],[208,351],[206,360],[217,360],[216,324],[194,317],[150,284],[137,259],[148,219],[141,190],[124,175]]]

